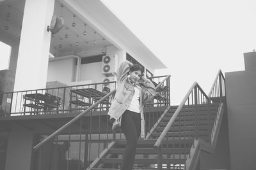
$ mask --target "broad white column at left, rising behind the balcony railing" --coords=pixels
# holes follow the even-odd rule
[[[54,0],[26,0],[14,91],[46,86]]]

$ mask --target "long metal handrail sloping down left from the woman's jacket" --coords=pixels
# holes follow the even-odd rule
[[[57,131],[53,132],[50,136],[47,136],[47,138],[45,138],[43,141],[41,141],[40,143],[38,143],[38,145],[33,147],[33,150],[37,150],[40,146],[44,145],[44,143],[47,143],[47,141],[50,141],[52,138],[54,138],[54,136],[56,136],[57,134],[60,134],[61,131],[63,131],[64,129],[66,129],[69,125],[73,124],[73,122],[76,122],[79,118],[83,117],[86,113],[88,113],[88,111],[92,110],[93,108],[95,108],[95,106],[97,106],[99,103],[101,103],[102,101],[104,101],[107,97],[111,96],[112,94],[114,94],[116,92],[116,89],[109,92],[108,94],[106,94],[106,96],[102,97],[99,101],[97,101],[96,103],[94,103],[92,106],[90,106],[88,109],[84,110],[82,113],[80,113],[79,115],[77,115],[76,117],[72,118],[72,120],[70,120],[69,122],[67,122],[67,124],[63,125],[62,127],[60,127],[60,129],[58,129]]]

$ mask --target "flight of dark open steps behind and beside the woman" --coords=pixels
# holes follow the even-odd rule
[[[216,109],[218,104],[214,107],[212,110]],[[176,109],[177,106],[172,106],[168,110],[150,134],[150,138],[139,140],[133,169],[157,169],[157,150],[154,149],[154,144]],[[196,110],[193,107],[182,110],[168,132],[168,138],[163,141],[163,147],[168,148],[162,151],[163,169],[164,167],[168,167],[168,169],[184,168],[196,134],[205,141],[209,139],[209,130],[212,128],[209,124],[213,124],[216,117],[215,112],[209,110],[205,105],[198,106]],[[88,169],[119,169],[126,144],[125,140],[114,141]]]

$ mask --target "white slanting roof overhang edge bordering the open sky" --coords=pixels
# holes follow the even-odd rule
[[[61,0],[79,17],[90,23],[95,31],[100,32],[118,49],[125,49],[132,56],[140,59],[153,69],[166,68],[164,63],[145,46],[101,1]]]

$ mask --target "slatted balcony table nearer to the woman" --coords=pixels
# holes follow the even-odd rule
[[[77,94],[79,96],[83,96],[88,98],[88,103],[92,103],[92,98],[94,97],[104,97],[106,94],[100,92],[99,90],[93,88],[86,88],[86,89],[73,89],[70,90],[70,108],[72,103],[72,94]]]

